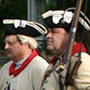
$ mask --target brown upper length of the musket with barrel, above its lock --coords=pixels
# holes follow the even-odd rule
[[[75,41],[75,34],[76,34],[76,31],[77,31],[78,19],[79,19],[82,3],[83,3],[83,0],[78,0],[77,5],[76,5],[75,14],[74,14],[74,18],[73,18],[71,29],[70,29],[70,35],[69,35],[69,39],[68,39],[65,55],[64,55],[64,58],[63,58],[63,62],[64,63],[66,63],[67,58],[68,59],[71,58],[73,44],[74,44],[74,41]]]

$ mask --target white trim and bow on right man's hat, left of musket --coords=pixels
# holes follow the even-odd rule
[[[73,17],[73,13],[71,12],[64,12],[63,10],[57,10],[57,11],[48,11],[44,14],[42,14],[43,19],[52,16],[52,21],[55,24],[58,24],[59,21],[63,18],[63,20],[67,23],[70,23]]]

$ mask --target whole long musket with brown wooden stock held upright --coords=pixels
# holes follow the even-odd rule
[[[60,90],[66,90],[65,82],[66,82],[66,77],[67,77],[68,69],[69,69],[69,65],[70,65],[70,59],[71,59],[72,49],[73,49],[73,45],[74,45],[74,41],[75,41],[75,34],[77,31],[78,19],[79,19],[82,3],[83,3],[83,0],[78,0],[77,4],[76,4],[73,21],[72,21],[72,25],[70,28],[70,35],[69,35],[69,39],[67,42],[65,55],[63,58],[64,70],[62,70],[59,75]]]

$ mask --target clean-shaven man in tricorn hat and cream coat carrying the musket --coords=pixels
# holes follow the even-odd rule
[[[47,49],[55,56],[50,61],[50,65],[46,69],[41,90],[61,90],[61,75],[64,67],[63,58],[65,55],[68,38],[70,35],[70,27],[73,20],[75,8],[68,8],[67,10],[49,10],[42,14],[42,17],[48,26]],[[84,28],[83,41],[82,32]],[[90,21],[80,12],[79,23],[76,32],[76,38],[72,50],[71,63],[66,79],[66,90],[90,90],[90,52],[88,46],[85,44],[87,40],[87,32],[90,31]],[[81,43],[82,41],[82,43]],[[74,65],[78,60],[78,53],[81,47],[81,65],[73,72],[75,79],[72,83],[69,78],[73,71]],[[68,52],[69,53],[69,52]],[[62,67],[61,67],[62,66]],[[72,74],[72,75],[73,75]],[[64,75],[63,75],[64,76]],[[72,76],[71,76],[72,77]],[[64,90],[64,89],[63,89]]]

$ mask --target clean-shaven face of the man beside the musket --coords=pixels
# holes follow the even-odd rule
[[[55,55],[61,55],[65,52],[69,33],[64,28],[49,28],[47,34],[47,49]]]

